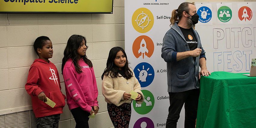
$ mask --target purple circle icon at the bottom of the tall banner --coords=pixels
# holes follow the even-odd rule
[[[133,126],[133,128],[154,128],[154,123],[148,117],[142,117],[137,120]]]

